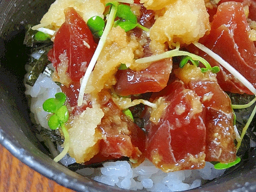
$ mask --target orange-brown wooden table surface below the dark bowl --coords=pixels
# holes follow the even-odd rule
[[[74,192],[30,169],[0,144],[0,192]]]

